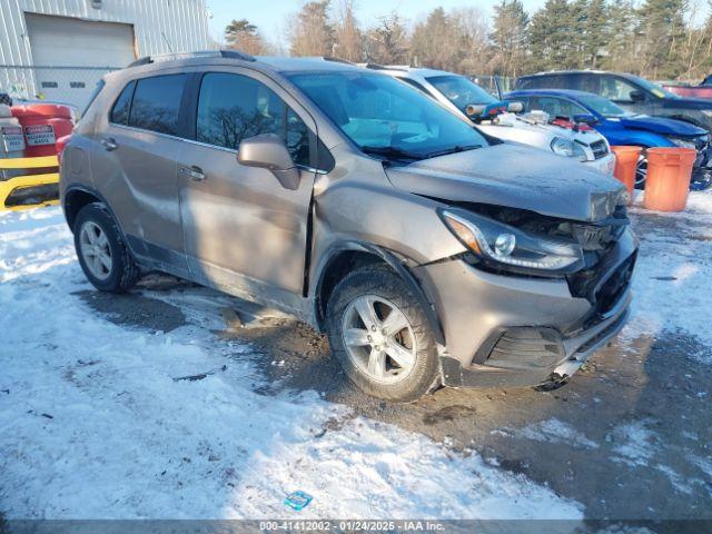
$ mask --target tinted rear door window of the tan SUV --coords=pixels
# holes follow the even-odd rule
[[[178,135],[178,112],[187,75],[156,76],[136,82],[129,126]]]

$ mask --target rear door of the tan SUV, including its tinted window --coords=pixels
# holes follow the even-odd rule
[[[134,251],[157,268],[187,271],[178,207],[176,159],[188,75],[128,81],[109,113],[99,118],[92,176]]]

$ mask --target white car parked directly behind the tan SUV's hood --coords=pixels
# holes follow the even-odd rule
[[[434,69],[383,67],[367,68],[393,76],[419,89],[457,116],[497,139],[531,145],[586,164],[606,175],[613,174],[614,156],[603,136],[591,128],[550,123],[548,117],[521,117],[508,112],[502,102],[469,78]]]

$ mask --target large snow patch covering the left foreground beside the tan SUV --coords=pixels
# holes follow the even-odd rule
[[[191,322],[119,326],[58,208],[0,214],[0,510],[9,518],[581,518],[523,475],[354,417],[264,395],[257,355]],[[279,365],[279,364],[277,364]],[[210,373],[200,380],[175,378]],[[301,490],[301,512],[284,505]]]

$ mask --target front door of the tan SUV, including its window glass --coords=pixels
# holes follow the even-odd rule
[[[194,277],[269,300],[270,288],[301,294],[316,127],[288,93],[257,76],[237,69],[201,76],[195,142],[178,157],[178,180]],[[237,162],[240,141],[260,134],[281,136],[305,168],[298,190]]]

